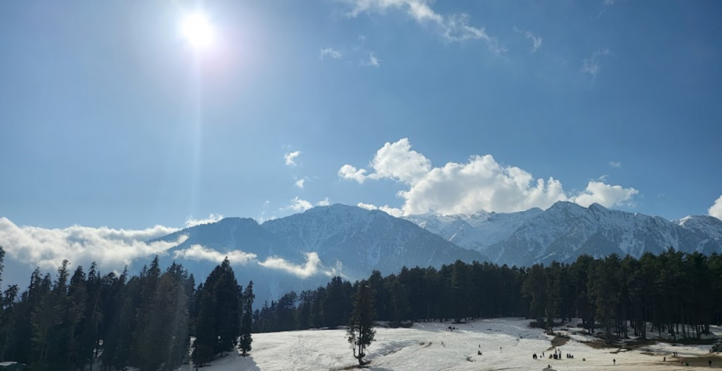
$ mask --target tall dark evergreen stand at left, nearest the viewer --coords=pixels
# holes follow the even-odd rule
[[[0,279],[3,257],[0,247]],[[251,350],[253,282],[242,290],[227,259],[197,288],[181,264],[162,271],[157,256],[136,276],[127,268],[102,275],[95,263],[87,272],[68,267],[64,261],[54,280],[35,269],[27,290],[4,290],[0,362],[39,371],[170,371]]]

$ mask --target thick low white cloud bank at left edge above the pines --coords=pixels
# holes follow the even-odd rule
[[[156,225],[143,230],[92,228],[73,225],[69,228],[40,228],[18,226],[7,218],[0,218],[0,246],[12,258],[25,264],[53,269],[64,259],[71,264],[96,262],[104,269],[122,269],[134,259],[165,254],[165,251],[186,241],[154,241],[178,231]]]

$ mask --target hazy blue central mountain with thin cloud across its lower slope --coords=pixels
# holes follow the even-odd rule
[[[168,251],[163,259],[166,264],[170,259],[180,260],[197,277],[206,277],[216,263],[199,259],[201,254],[176,253],[202,246],[218,251],[220,256],[228,254],[231,261],[232,251],[256,254],[252,262],[235,264],[235,271],[239,283],[255,282],[259,303],[290,290],[316,288],[329,281],[330,274],[356,280],[368,277],[374,269],[390,274],[404,266],[440,267],[456,259],[486,260],[478,251],[456,246],[407,220],[383,211],[347,205],[314,207],[305,213],[262,224],[250,218],[225,218],[160,239],[177,241],[181,235],[188,238]],[[318,254],[318,266],[308,262],[307,253]],[[258,264],[269,258],[280,258],[285,263],[274,262],[273,267]],[[283,264],[284,269],[279,269]],[[290,272],[293,269],[295,274]],[[318,269],[318,272],[302,277],[303,269]]]

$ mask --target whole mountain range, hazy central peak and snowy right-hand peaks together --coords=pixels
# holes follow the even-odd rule
[[[228,256],[241,285],[255,282],[262,304],[290,290],[325,285],[334,275],[357,280],[374,269],[391,274],[404,266],[440,267],[457,259],[528,267],[554,260],[573,262],[581,254],[639,257],[669,247],[720,253],[722,220],[706,215],[666,220],[571,202],[518,213],[401,218],[336,204],[264,223],[225,218],[148,242],[159,240],[173,245],[182,241],[162,254],[161,261],[181,262],[195,275],[196,284]],[[144,260],[136,263],[149,261]],[[6,263],[6,273],[28,277],[29,272],[15,272],[20,267]]]

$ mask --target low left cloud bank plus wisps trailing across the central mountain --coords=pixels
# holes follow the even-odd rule
[[[305,205],[303,202],[298,200],[297,205],[310,208],[310,204]],[[318,203],[321,205],[328,202],[329,199],[326,198]],[[179,229],[162,225],[143,230],[92,228],[79,225],[56,229],[20,227],[7,218],[0,218],[0,246],[3,246],[6,254],[14,260],[42,269],[55,269],[64,259],[68,259],[71,267],[87,266],[91,262],[96,262],[100,269],[120,271],[135,259],[168,254],[168,249],[188,239],[188,236],[181,235],[175,241],[148,242],[176,231]],[[174,259],[204,260],[214,263],[222,262],[226,256],[231,264],[245,265],[255,262],[261,267],[283,270],[300,278],[308,278],[316,274],[329,277],[341,274],[340,267],[324,267],[315,252],[306,254],[306,263],[297,266],[278,257],[269,257],[264,262],[259,262],[256,254],[240,250],[220,252],[198,244],[188,249],[173,251]]]

